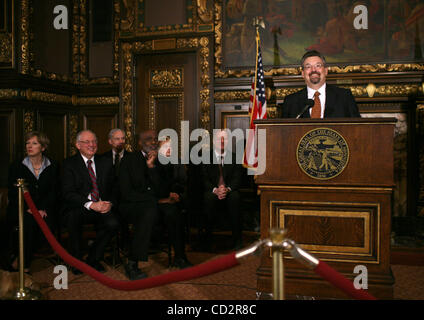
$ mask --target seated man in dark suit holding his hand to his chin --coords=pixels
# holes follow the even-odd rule
[[[147,277],[139,268],[139,262],[148,260],[152,230],[159,218],[159,212],[164,214],[165,221],[174,218],[178,213],[172,204],[164,203],[159,206],[158,203],[161,170],[157,161],[157,143],[155,131],[141,132],[138,139],[140,151],[122,161],[119,170],[120,211],[127,222],[134,226],[128,264],[125,266],[126,275],[130,280]]]

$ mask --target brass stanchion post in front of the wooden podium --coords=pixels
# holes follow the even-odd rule
[[[272,228],[270,237],[272,242],[272,284],[274,300],[284,300],[284,265],[283,241],[287,232],[285,229]]]

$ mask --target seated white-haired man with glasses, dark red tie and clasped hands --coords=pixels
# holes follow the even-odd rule
[[[116,206],[112,165],[96,155],[97,137],[90,130],[77,134],[78,153],[63,163],[62,192],[65,221],[69,230],[70,251],[81,259],[80,238],[82,225],[96,225],[96,240],[91,245],[87,264],[105,271],[100,263],[104,250],[118,229],[112,208]],[[80,273],[73,269],[74,273]]]

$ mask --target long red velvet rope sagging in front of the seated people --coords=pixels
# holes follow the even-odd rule
[[[31,209],[31,212],[35,218],[35,221],[37,221],[42,232],[44,233],[44,236],[46,237],[47,241],[49,242],[53,250],[56,251],[56,253],[67,264],[70,264],[71,266],[81,270],[82,272],[86,273],[87,275],[97,280],[98,282],[113,289],[127,290],[127,291],[148,289],[148,288],[153,288],[157,286],[162,286],[172,282],[179,282],[179,281],[185,281],[185,280],[204,277],[212,273],[217,273],[217,272],[232,268],[239,264],[236,258],[236,253],[233,252],[223,257],[216,258],[212,261],[202,263],[200,265],[197,265],[191,268],[169,272],[166,274],[161,274],[152,278],[146,278],[146,279],[134,280],[134,281],[114,280],[109,277],[106,277],[102,273],[98,272],[96,269],[90,267],[84,262],[71,256],[57,242],[56,238],[51,233],[49,227],[47,226],[43,218],[41,218],[40,213],[38,212],[38,209],[35,207],[35,204],[32,201],[31,195],[29,194],[28,191],[24,192],[24,198],[26,203],[28,204],[28,207]]]

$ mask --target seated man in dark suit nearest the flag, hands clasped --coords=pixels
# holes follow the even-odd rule
[[[210,249],[211,229],[216,220],[218,206],[224,206],[231,220],[232,248],[242,247],[242,219],[240,212],[240,193],[238,191],[243,174],[243,168],[236,163],[236,155],[227,150],[228,134],[219,131],[213,137],[211,163],[203,164],[202,179],[204,185],[203,213],[205,228],[205,245]]]

